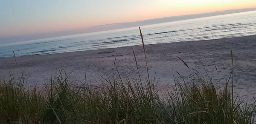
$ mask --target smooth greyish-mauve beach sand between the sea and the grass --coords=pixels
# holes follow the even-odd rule
[[[145,41],[146,44],[147,41]],[[136,75],[137,67],[132,48],[136,54],[140,74],[147,75],[143,46],[128,46],[114,49],[100,49],[80,52],[67,52],[51,55],[31,55],[14,58],[0,58],[1,76],[8,77],[9,71],[18,76],[26,73],[31,85],[44,84],[58,69],[72,72],[76,79],[95,82],[92,77],[113,77],[113,64],[116,56],[116,67],[123,75]],[[221,86],[226,84],[232,72],[230,50],[234,58],[234,87],[241,96],[252,98],[256,95],[256,35],[176,43],[146,45],[148,69],[151,79],[156,71],[157,87],[171,87],[173,75],[188,76],[190,70],[179,58],[185,61],[190,69],[197,69],[207,77],[206,72]],[[216,69],[217,68],[217,69]],[[178,73],[177,73],[177,72]]]

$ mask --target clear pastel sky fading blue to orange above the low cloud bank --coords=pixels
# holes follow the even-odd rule
[[[256,8],[256,0],[0,0],[0,43],[90,32],[91,27]]]

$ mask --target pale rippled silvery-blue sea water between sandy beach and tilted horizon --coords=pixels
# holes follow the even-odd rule
[[[141,26],[145,44],[256,35],[256,11]],[[0,44],[0,58],[142,45],[138,27]]]

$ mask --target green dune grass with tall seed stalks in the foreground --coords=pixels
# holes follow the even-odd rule
[[[144,43],[143,49],[146,59]],[[134,58],[137,65],[135,53]],[[114,69],[119,74],[115,66]],[[149,74],[147,78],[140,74],[102,76],[95,80],[98,85],[92,85],[86,79],[71,80],[70,75],[60,70],[43,88],[29,87],[23,74],[19,78],[10,74],[9,79],[0,79],[0,122],[255,124],[255,103],[248,104],[239,95],[233,96],[233,80],[220,87],[210,76],[191,70],[190,78],[175,78],[175,85],[168,90],[157,89]]]

